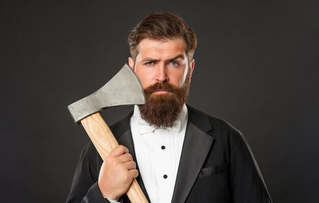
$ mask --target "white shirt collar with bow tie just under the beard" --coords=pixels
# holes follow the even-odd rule
[[[175,122],[174,126],[172,128],[165,129],[178,133],[182,129],[187,119],[187,114],[187,107],[185,104],[183,104],[183,107],[179,113],[178,120]],[[144,119],[141,118],[140,109],[137,105],[134,106],[134,114],[132,115],[132,118],[137,120],[137,125],[140,134],[150,133],[157,129],[154,126],[150,126]]]

